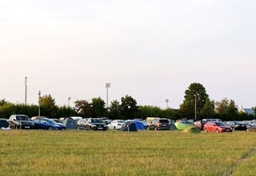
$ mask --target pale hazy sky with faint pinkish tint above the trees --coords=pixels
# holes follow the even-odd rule
[[[178,108],[200,83],[212,100],[256,106],[255,18],[252,0],[0,1],[0,99]]]

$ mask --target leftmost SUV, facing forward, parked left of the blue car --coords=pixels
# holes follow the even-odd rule
[[[25,114],[12,114],[8,120],[10,128],[34,128],[34,122]]]

